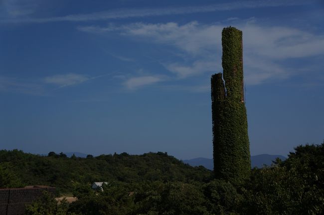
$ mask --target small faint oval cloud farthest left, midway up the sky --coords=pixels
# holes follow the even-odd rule
[[[49,84],[55,84],[58,85],[59,87],[66,87],[70,85],[80,84],[89,79],[90,78],[85,75],[68,73],[65,75],[53,75],[53,76],[45,77],[44,82]]]

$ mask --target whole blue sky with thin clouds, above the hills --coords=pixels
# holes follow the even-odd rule
[[[324,139],[321,0],[2,0],[0,149],[212,157],[221,30],[243,31],[251,155]]]

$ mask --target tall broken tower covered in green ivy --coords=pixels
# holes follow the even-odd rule
[[[242,31],[222,31],[223,74],[211,76],[213,157],[216,179],[241,184],[251,171],[244,103]]]

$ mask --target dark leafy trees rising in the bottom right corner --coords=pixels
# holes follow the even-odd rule
[[[244,214],[323,214],[324,144],[299,146],[286,161],[253,169],[245,189]]]

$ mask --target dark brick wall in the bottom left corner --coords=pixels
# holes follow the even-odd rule
[[[55,188],[47,186],[0,189],[0,215],[23,215],[25,205],[42,196],[44,191],[55,195]]]

